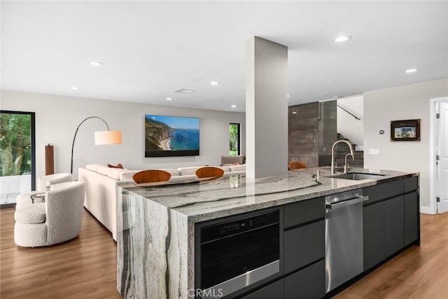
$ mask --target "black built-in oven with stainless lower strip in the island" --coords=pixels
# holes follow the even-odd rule
[[[221,298],[280,272],[280,211],[197,228],[197,298]]]

